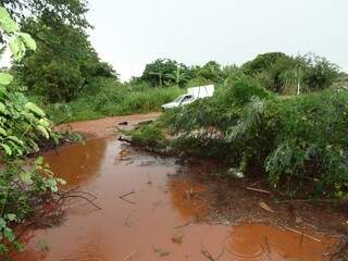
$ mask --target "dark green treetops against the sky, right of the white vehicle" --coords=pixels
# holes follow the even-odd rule
[[[259,54],[241,66],[274,92],[295,95],[330,87],[338,76],[337,65],[313,54],[288,57],[282,52]]]

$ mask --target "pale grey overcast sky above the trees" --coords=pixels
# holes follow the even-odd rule
[[[348,71],[347,0],[89,0],[90,39],[122,79],[171,58],[240,64],[314,52]]]

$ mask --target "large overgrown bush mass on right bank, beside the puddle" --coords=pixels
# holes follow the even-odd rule
[[[225,159],[289,197],[345,200],[347,113],[345,88],[284,98],[240,77],[132,135],[145,146]]]

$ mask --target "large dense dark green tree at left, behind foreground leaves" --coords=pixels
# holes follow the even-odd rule
[[[77,98],[97,76],[116,77],[111,66],[99,61],[87,35],[65,23],[48,26],[42,20],[23,24],[37,41],[37,51],[27,54],[15,71],[32,94],[51,102]]]

